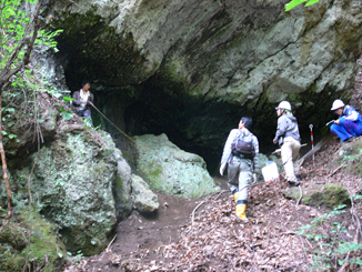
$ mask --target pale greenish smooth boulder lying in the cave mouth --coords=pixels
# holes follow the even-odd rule
[[[165,134],[135,137],[138,170],[152,190],[199,198],[219,190],[204,160],[179,149]]]

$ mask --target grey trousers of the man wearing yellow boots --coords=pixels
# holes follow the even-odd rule
[[[238,193],[238,203],[247,204],[249,187],[252,183],[252,161],[233,157],[228,162],[228,185]]]

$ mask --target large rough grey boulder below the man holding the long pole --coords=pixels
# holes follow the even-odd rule
[[[30,163],[33,199],[42,203],[40,212],[60,226],[67,250],[86,255],[104,250],[117,223],[111,137],[82,124],[64,125]]]

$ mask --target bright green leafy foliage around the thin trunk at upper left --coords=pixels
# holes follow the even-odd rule
[[[30,104],[33,102],[31,108],[37,112],[33,113],[36,121],[39,119],[39,109],[33,93],[48,91],[57,98],[62,95],[37,74],[37,67],[27,66],[26,57],[30,57],[33,49],[53,49],[57,52],[54,38],[62,31],[48,32],[39,29],[40,3],[41,0],[0,0],[0,94],[8,92],[13,95],[24,94]],[[16,124],[11,117],[19,112],[13,108],[6,108],[2,112],[4,114],[0,121],[7,122],[4,125],[7,131],[2,131],[2,134],[16,139],[17,135],[11,133],[11,128]],[[63,113],[64,115],[69,118],[68,112]],[[39,120],[39,123],[41,121]]]

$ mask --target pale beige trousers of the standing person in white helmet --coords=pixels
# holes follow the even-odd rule
[[[281,155],[285,171],[285,179],[292,183],[296,181],[300,174],[299,163],[296,162],[301,143],[292,137],[284,138],[284,143],[281,148]]]

